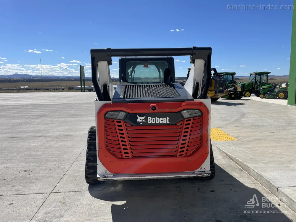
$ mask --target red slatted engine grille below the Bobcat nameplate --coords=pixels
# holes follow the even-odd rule
[[[172,126],[131,126],[105,119],[105,146],[118,158],[190,156],[201,146],[201,126],[201,117]]]

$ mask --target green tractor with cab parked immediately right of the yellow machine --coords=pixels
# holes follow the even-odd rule
[[[211,70],[214,71],[213,73],[214,76],[219,76],[223,78],[226,82],[225,89],[227,91],[227,94],[222,96],[221,98],[241,99],[243,97],[241,88],[235,81],[236,73],[228,73],[228,72],[218,73],[215,68],[212,68]]]

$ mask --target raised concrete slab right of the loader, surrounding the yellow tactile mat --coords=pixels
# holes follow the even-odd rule
[[[238,140],[213,144],[296,212],[295,113],[264,99],[223,99],[212,104],[211,127]]]

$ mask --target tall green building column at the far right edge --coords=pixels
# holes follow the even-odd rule
[[[296,0],[294,0],[296,7]],[[293,10],[288,105],[296,105],[296,11]]]

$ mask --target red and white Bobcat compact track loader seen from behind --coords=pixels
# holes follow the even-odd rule
[[[211,54],[210,47],[91,49],[96,126],[88,134],[86,183],[214,178]],[[171,56],[188,55],[192,66],[183,87],[175,81]],[[112,57],[120,57],[116,88]]]

